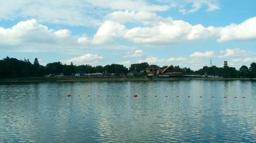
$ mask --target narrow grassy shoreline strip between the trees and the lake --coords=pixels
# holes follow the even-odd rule
[[[256,78],[147,78],[139,77],[21,77],[2,78],[0,83],[27,83],[27,82],[76,82],[76,81],[166,81],[166,80],[256,80]]]

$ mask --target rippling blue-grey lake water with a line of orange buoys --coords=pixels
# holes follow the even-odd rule
[[[0,142],[255,142],[255,108],[255,81],[0,84]]]

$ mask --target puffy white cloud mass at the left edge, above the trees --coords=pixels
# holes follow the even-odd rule
[[[73,51],[77,37],[69,30],[54,31],[35,19],[18,22],[11,28],[0,27],[0,48],[8,51]],[[70,52],[71,53],[71,52]]]

